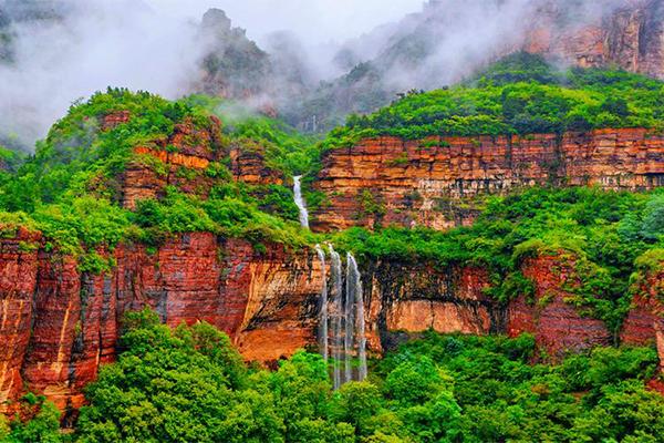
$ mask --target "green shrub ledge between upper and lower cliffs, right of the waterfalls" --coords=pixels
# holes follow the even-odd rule
[[[561,256],[573,269],[566,289],[574,297],[568,301],[616,331],[629,310],[632,274],[658,266],[661,253],[653,251],[664,247],[663,210],[662,192],[532,188],[488,198],[471,227],[353,228],[334,235],[333,243],[363,260],[484,267],[494,282],[489,293],[502,301],[531,292],[520,274],[526,258]]]

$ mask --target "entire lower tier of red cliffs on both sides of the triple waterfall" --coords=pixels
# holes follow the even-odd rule
[[[226,331],[247,360],[268,365],[298,349],[315,349],[322,272],[314,251],[267,245],[257,253],[245,240],[187,234],[153,254],[120,246],[105,253],[116,260],[112,271],[90,275],[71,257],[39,245],[39,235],[24,230],[0,239],[0,412],[11,413],[12,401],[27,390],[75,411],[84,403],[83,387],[116,357],[124,312],[145,306],[172,327],[207,321]],[[483,268],[362,265],[373,354],[428,329],[529,332],[552,358],[612,342],[601,321],[564,302],[561,288],[571,271],[559,257],[528,259],[522,271],[536,282],[533,300],[507,306],[486,295],[491,282]],[[661,287],[662,277],[650,276],[649,285]],[[636,297],[623,340],[657,342],[664,361],[662,312],[657,302]]]

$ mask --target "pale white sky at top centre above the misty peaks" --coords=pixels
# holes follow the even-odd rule
[[[422,10],[424,0],[146,0],[153,8],[199,19],[209,8],[224,9],[236,25],[261,40],[291,30],[310,44],[345,40]]]

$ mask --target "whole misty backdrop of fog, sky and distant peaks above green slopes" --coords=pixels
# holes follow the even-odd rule
[[[541,8],[583,23],[626,1],[0,0],[0,134],[31,146],[110,85],[224,95],[329,128],[518,48]],[[208,8],[220,10],[201,25]]]

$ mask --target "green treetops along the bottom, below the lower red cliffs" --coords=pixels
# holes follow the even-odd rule
[[[73,435],[54,435],[46,406],[4,425],[10,442],[661,442],[664,398],[644,381],[647,348],[598,348],[558,365],[531,365],[532,337],[426,332],[364,382],[333,392],[318,354],[276,371],[247,368],[206,323],[127,316],[116,363],[86,390]],[[56,423],[56,422],[55,422]],[[0,425],[0,433],[2,433]],[[11,431],[10,431],[11,430]]]

